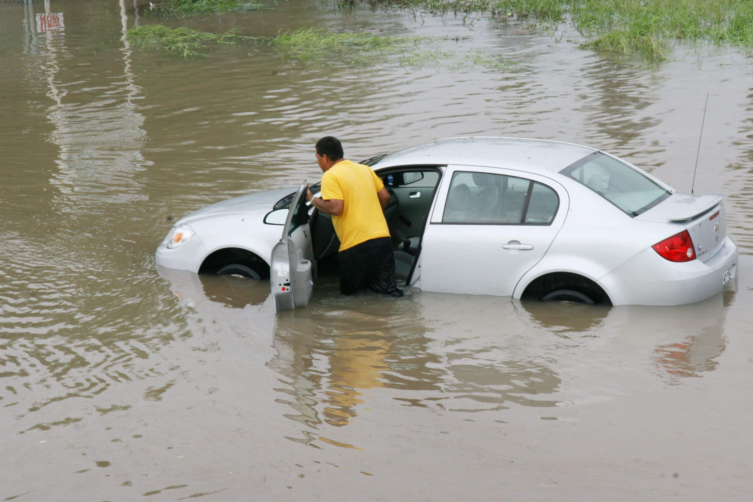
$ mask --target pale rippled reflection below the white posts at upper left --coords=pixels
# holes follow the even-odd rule
[[[129,26],[124,0],[120,0],[120,18],[123,67],[120,75],[104,81],[81,81],[74,68],[66,78],[67,68],[62,66],[69,59],[65,33],[44,34],[47,96],[53,100],[47,117],[55,126],[50,140],[60,149],[59,174],[50,181],[65,196],[64,211],[102,211],[102,203],[108,207],[148,199],[140,193],[143,182],[137,178],[151,163],[142,154],[145,117],[136,106],[142,99],[141,87],[135,84],[131,68],[133,50],[125,35]]]

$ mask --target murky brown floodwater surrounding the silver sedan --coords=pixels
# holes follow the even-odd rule
[[[753,59],[648,65],[522,22],[342,13],[320,2],[162,19],[144,5],[0,3],[3,500],[751,500]],[[249,35],[328,26],[442,36],[512,71],[176,59],[164,22]],[[458,38],[458,41],[454,41]],[[268,284],[157,269],[171,221],[453,135],[593,145],[727,197],[736,291],[587,308],[427,294],[273,315]]]

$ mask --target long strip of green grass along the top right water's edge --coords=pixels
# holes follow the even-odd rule
[[[490,13],[535,23],[571,22],[594,38],[581,47],[664,59],[669,41],[753,47],[753,0],[361,0],[432,14]]]

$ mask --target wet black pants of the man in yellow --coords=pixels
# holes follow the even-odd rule
[[[395,284],[395,254],[392,240],[380,237],[361,242],[337,253],[340,264],[340,293],[353,294],[371,288],[377,293],[402,297]]]

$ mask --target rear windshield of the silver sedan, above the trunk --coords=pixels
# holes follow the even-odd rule
[[[671,195],[656,181],[613,157],[594,152],[559,172],[585,185],[631,217]]]

